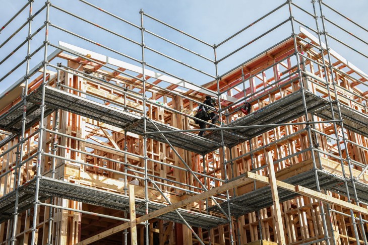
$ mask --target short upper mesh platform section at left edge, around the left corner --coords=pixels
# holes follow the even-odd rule
[[[35,105],[29,101],[21,101],[13,106],[8,112],[0,116],[0,129],[9,132],[20,132],[22,129],[23,112],[26,110],[26,129],[31,127],[40,120],[41,109],[39,105]],[[53,111],[52,108],[46,108],[44,115],[47,116]]]

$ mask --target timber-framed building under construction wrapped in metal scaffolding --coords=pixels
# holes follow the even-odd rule
[[[49,0],[36,11],[25,2],[4,25],[27,14],[0,45],[0,65],[27,49],[0,78],[20,77],[0,96],[1,244],[367,244],[368,75],[329,46],[368,58],[366,39],[333,20],[363,36],[366,28],[322,1],[305,9],[288,0],[212,45],[142,10],[133,23],[80,2],[139,39]],[[279,11],[286,14],[276,23]],[[66,17],[53,19],[58,12]],[[43,20],[36,31],[35,18]],[[131,43],[140,58],[62,27],[77,19],[90,32]],[[217,55],[265,20],[274,26]],[[207,46],[212,56],[156,34],[147,22]],[[329,32],[332,25],[359,45]],[[5,50],[27,27],[22,43]],[[219,73],[223,60],[278,28],[288,34]],[[52,30],[68,38],[54,42]],[[211,72],[153,48],[146,37],[208,62]],[[81,42],[96,49],[74,45]],[[31,66],[39,53],[44,58]],[[147,62],[148,53],[207,83]],[[220,123],[204,121],[209,128],[200,137],[195,111],[208,95],[217,99]],[[252,105],[248,115],[239,110],[244,102]]]

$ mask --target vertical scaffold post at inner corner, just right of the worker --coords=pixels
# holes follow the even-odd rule
[[[220,122],[220,127],[222,128],[222,110],[221,110],[221,96],[220,96],[220,78],[218,76],[218,61],[217,61],[217,54],[216,54],[216,44],[213,45],[213,51],[214,51],[214,56],[215,56],[215,69],[216,69],[216,85],[217,85],[217,100],[218,100],[218,113],[219,113],[219,122]],[[221,148],[222,148],[222,162],[224,164],[224,178],[225,181],[228,181],[228,177],[227,177],[227,162],[226,162],[226,158],[225,158],[225,144],[224,144],[224,134],[223,131],[221,131]],[[227,213],[228,213],[228,219],[229,219],[229,234],[230,234],[230,244],[233,245],[234,244],[234,238],[233,238],[233,234],[232,234],[232,219],[231,219],[231,210],[230,210],[230,196],[229,196],[229,190],[226,190],[226,201],[227,201]]]

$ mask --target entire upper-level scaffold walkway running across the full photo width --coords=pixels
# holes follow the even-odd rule
[[[311,92],[299,90],[225,125],[225,130],[223,130],[225,145],[232,147],[274,128],[274,126],[269,126],[226,130],[226,127],[286,123],[302,116],[304,114],[302,93],[305,96],[308,112],[314,112],[321,118],[332,120],[327,100]],[[33,125],[39,119],[41,99],[40,89],[28,96],[27,126]],[[54,109],[62,109],[122,129],[129,129],[129,131],[139,135],[144,134],[142,117],[49,86],[45,87],[45,104],[45,115],[50,114]],[[336,104],[334,107],[336,107]],[[20,102],[8,113],[4,114],[0,118],[0,128],[13,132],[19,131],[22,126],[23,109],[23,102]],[[341,105],[340,109],[345,127],[367,137],[368,117],[344,105]],[[334,108],[335,118],[338,118],[336,111],[337,108]],[[147,121],[147,132],[157,131],[155,126],[160,131],[172,131],[169,134],[165,134],[165,137],[172,145],[182,149],[205,154],[221,147],[221,144],[218,143],[221,142],[220,131],[214,131],[205,135],[205,137],[199,137],[190,132],[174,132],[178,129],[149,120]],[[161,134],[148,134],[148,137],[160,142],[166,142]]]

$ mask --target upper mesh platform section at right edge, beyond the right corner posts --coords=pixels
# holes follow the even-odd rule
[[[334,109],[335,119],[340,118],[337,112],[338,110],[336,103],[334,103],[332,107]],[[368,115],[355,111],[342,103],[340,103],[340,111],[343,120],[342,122],[346,129],[368,137]],[[329,105],[317,110],[315,114],[321,118],[332,120],[332,112]]]

